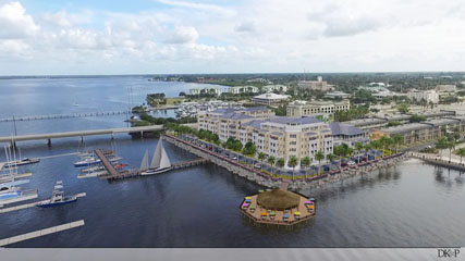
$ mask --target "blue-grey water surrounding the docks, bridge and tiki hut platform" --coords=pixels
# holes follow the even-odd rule
[[[143,76],[101,78],[2,79],[0,113],[3,116],[69,113],[72,110],[125,109],[126,86],[142,102],[144,91],[170,95],[192,85],[147,82]],[[175,86],[169,88],[167,86]],[[171,86],[172,87],[172,86]],[[7,91],[4,91],[7,90]],[[27,91],[25,91],[27,90]],[[48,90],[53,90],[49,92]],[[22,98],[22,94],[26,98]],[[99,99],[101,98],[101,99]],[[136,98],[134,98],[136,100]],[[95,101],[94,101],[95,100]],[[77,101],[78,108],[72,104]],[[82,104],[82,105],[81,105]],[[85,105],[86,104],[86,105]],[[94,108],[96,107],[96,108]],[[124,116],[24,122],[20,134],[125,126]],[[0,133],[10,135],[9,124]],[[110,137],[19,142],[23,157],[47,157],[79,149],[115,148],[122,162],[138,167],[156,139],[133,139],[127,134]],[[84,148],[83,148],[84,147]],[[172,162],[194,156],[164,142]],[[19,151],[17,151],[19,152]],[[4,160],[0,151],[0,161]],[[310,224],[293,231],[256,227],[238,213],[246,195],[261,187],[213,164],[156,176],[109,183],[77,179],[75,156],[44,159],[22,166],[32,171],[24,189],[51,196],[57,179],[68,194],[86,192],[77,202],[50,209],[29,208],[0,214],[0,238],[83,219],[85,226],[10,247],[436,247],[465,245],[464,174],[407,161],[346,179],[322,189],[301,192],[317,199]],[[36,199],[36,200],[39,200]]]

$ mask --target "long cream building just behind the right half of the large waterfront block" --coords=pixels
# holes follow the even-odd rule
[[[296,100],[287,104],[287,116],[308,116],[317,113],[332,114],[338,111],[348,111],[351,101],[302,101]]]

